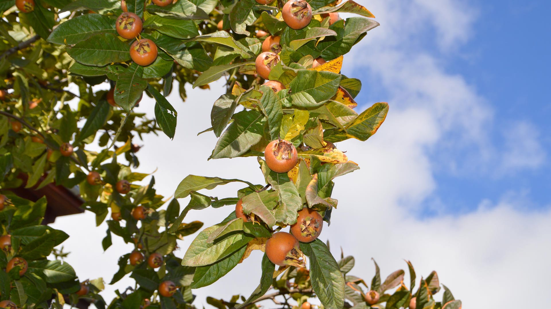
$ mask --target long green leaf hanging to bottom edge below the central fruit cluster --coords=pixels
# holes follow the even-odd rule
[[[344,306],[344,277],[337,261],[323,241],[300,243],[301,250],[310,257],[312,289],[326,308]]]

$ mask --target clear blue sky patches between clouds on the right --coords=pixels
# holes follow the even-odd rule
[[[507,136],[511,135],[509,130],[516,128],[514,123],[520,121],[529,128],[525,133],[539,134],[537,142],[543,154],[548,154],[551,150],[551,139],[546,134],[551,129],[551,35],[547,14],[551,2],[471,1],[470,4],[467,15],[474,20],[463,44],[441,48],[439,40],[435,40],[437,30],[424,24],[424,34],[415,35],[407,42],[409,50],[430,53],[447,74],[461,75],[483,97],[493,113],[484,127],[488,143],[496,152],[505,151],[508,141],[514,142]],[[356,99],[360,102],[385,100],[392,90],[380,87],[376,75],[369,70],[363,71],[368,74],[361,72],[354,72],[359,74],[355,77],[364,81],[363,91]],[[449,137],[456,134],[453,130],[447,132]],[[517,135],[520,136],[515,138],[522,137]],[[430,158],[437,162],[434,173],[437,188],[419,216],[470,212],[481,200],[499,200],[504,195],[523,200],[523,207],[527,209],[549,207],[548,157],[536,165],[499,171],[500,166],[491,159],[473,159],[479,155],[477,145],[468,144],[457,150],[445,142],[431,148]],[[469,172],[451,171],[450,162],[469,165],[477,171],[469,167],[466,168]]]

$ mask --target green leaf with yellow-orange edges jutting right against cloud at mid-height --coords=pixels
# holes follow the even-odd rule
[[[375,103],[369,109],[362,112],[356,119],[343,129],[328,129],[324,132],[324,138],[328,142],[341,142],[342,140],[355,138],[366,140],[377,132],[385,121],[388,113],[386,102]]]

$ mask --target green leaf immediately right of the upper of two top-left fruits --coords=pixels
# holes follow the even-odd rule
[[[144,29],[155,29],[176,39],[189,39],[199,35],[197,24],[193,20],[179,20],[152,15],[143,23]]]

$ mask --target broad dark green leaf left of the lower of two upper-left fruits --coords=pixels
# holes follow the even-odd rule
[[[130,60],[128,44],[109,32],[90,36],[66,50],[76,61],[89,66],[101,67],[111,62]]]

